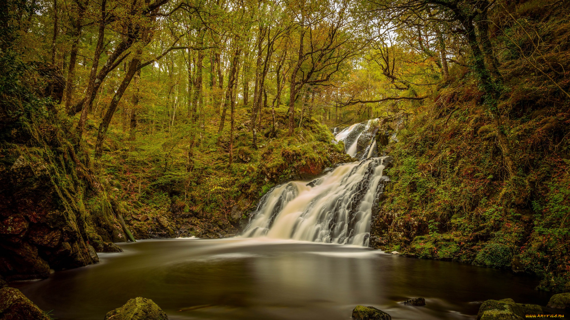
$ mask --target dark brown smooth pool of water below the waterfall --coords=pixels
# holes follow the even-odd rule
[[[479,302],[545,305],[535,278],[365,247],[266,238],[141,240],[100,263],[11,284],[59,320],[97,319],[135,297],[169,319],[351,319],[356,305],[392,319],[475,319]],[[400,301],[425,297],[426,306]]]

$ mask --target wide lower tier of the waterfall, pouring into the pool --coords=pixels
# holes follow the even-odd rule
[[[312,182],[272,188],[243,236],[367,246],[372,207],[381,180],[388,179],[382,177],[385,158],[345,163]]]

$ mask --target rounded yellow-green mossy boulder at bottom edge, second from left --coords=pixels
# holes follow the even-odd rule
[[[168,320],[166,313],[150,299],[137,297],[109,311],[105,320]]]

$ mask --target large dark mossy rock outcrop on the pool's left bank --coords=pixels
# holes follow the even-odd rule
[[[4,151],[6,158],[12,156],[12,150]],[[72,148],[62,152],[70,161],[75,157]],[[50,171],[54,157],[20,155],[0,170],[5,186],[0,190],[0,274],[8,281],[46,278],[50,268],[96,262],[88,249],[88,214],[80,203],[79,180]]]

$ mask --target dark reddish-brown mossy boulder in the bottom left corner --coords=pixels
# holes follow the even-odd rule
[[[5,287],[0,289],[0,320],[50,320],[20,290]]]

